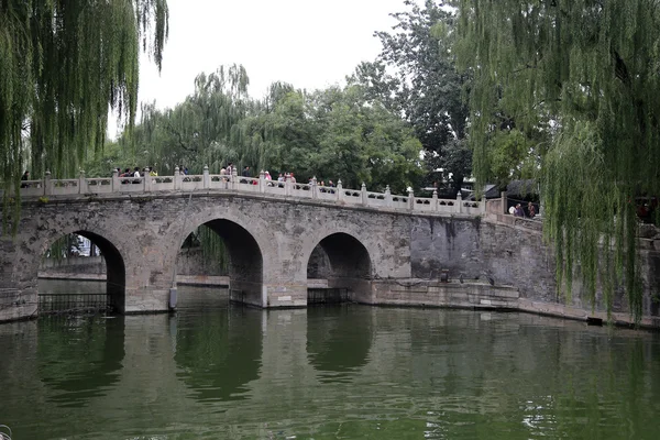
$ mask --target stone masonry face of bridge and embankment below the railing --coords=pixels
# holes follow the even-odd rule
[[[493,280],[496,288],[503,288],[507,307],[517,304],[521,309],[554,315],[568,308],[576,310],[575,316],[591,314],[579,284],[571,304],[557,297],[554,262],[542,243],[541,223],[505,217],[432,216],[222,191],[26,201],[16,235],[0,237],[0,320],[35,314],[42,255],[55,240],[74,232],[99,246],[113,285],[122,283],[121,292],[116,292],[121,295],[121,311],[167,310],[182,243],[200,224],[210,224],[226,241],[232,260],[230,288],[260,307],[306,306],[308,273],[323,272],[312,251],[322,240],[330,240],[324,243],[332,251],[333,266],[349,272],[333,274],[328,286],[349,288],[361,302],[402,304],[405,294],[417,295],[415,304],[426,304],[424,295],[433,299],[429,295],[438,293],[443,301],[461,297],[466,298],[464,304],[485,304],[480,296],[495,294],[482,286]],[[653,318],[658,316],[653,295],[660,282],[660,257],[656,241],[646,248],[645,316]],[[367,264],[358,255],[366,255]],[[338,262],[353,263],[341,267]],[[369,267],[370,273],[351,273],[352,266]],[[457,284],[450,290],[437,285],[443,271]],[[464,285],[458,284],[460,277]],[[410,287],[425,284],[426,289]],[[512,295],[512,289],[517,294]],[[627,312],[623,298],[615,307]],[[594,311],[600,310],[601,304]],[[656,324],[660,327],[660,319]]]

